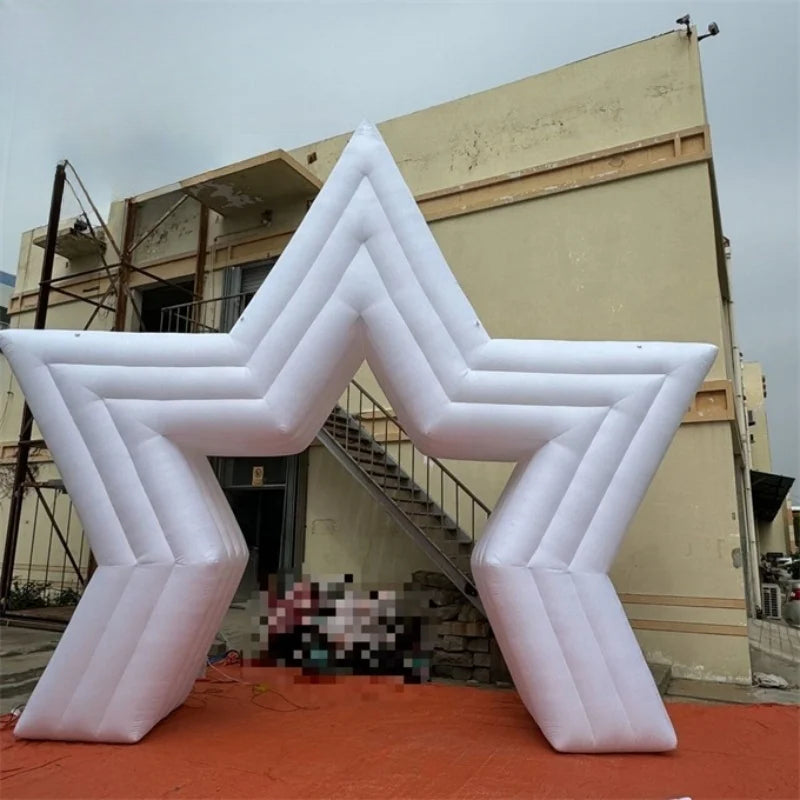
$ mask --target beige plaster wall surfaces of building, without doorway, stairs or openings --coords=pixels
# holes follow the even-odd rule
[[[731,337],[707,155],[670,161],[679,155],[679,133],[705,124],[696,40],[672,33],[379,127],[423,210],[426,194],[456,198],[449,211],[437,212],[431,229],[492,336],[691,340],[725,348]],[[646,168],[611,180],[615,170],[638,163],[651,137],[666,145],[652,151]],[[309,144],[292,155],[324,179],[346,139]],[[603,155],[607,148],[624,152]],[[521,171],[549,175],[555,162],[571,171],[559,173],[559,186],[540,184],[535,199],[495,196],[469,214],[458,206],[457,193],[467,183],[498,176],[513,182]],[[173,187],[137,198],[143,208],[136,236],[175,197]],[[212,214],[206,296],[219,296],[226,266],[278,255],[303,210],[276,209],[268,227]],[[112,218],[121,236],[122,204],[112,208]],[[192,274],[196,225],[196,204],[184,203],[137,250],[136,263],[168,278]],[[23,238],[27,256],[18,291],[35,286],[40,249],[29,245]],[[134,287],[146,282],[131,277]],[[80,327],[78,314],[84,319],[86,308],[78,308],[54,308],[53,326]],[[17,319],[30,324],[29,314]],[[725,355],[710,380],[730,381]],[[367,368],[358,379],[385,399]],[[748,680],[731,423],[724,414],[708,419],[681,427],[612,579],[649,658],[672,663],[677,674]],[[4,441],[15,436],[3,428]],[[511,470],[508,464],[448,466],[490,506]],[[430,568],[320,447],[310,453],[308,486],[306,571],[400,583],[413,570]]]

